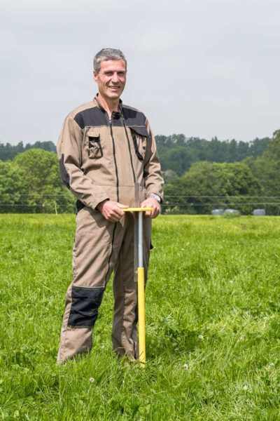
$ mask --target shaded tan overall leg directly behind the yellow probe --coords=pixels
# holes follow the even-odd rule
[[[144,268],[145,281],[151,244],[151,220],[144,218]],[[134,218],[125,215],[125,233],[118,255],[113,279],[114,319],[112,330],[113,349],[120,356],[138,358],[137,340],[137,282],[134,281]]]

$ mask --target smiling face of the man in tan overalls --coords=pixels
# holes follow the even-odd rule
[[[99,94],[105,100],[116,100],[120,98],[125,88],[126,74],[124,60],[102,61],[99,72],[93,72]]]

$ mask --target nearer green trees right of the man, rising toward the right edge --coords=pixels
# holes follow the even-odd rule
[[[260,156],[239,162],[197,161],[165,186],[165,212],[211,213],[214,208],[235,208],[248,214],[265,208],[280,210],[280,131],[275,131]]]

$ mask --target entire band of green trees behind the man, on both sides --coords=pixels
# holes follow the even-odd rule
[[[210,141],[157,135],[165,177],[165,213],[210,213],[264,208],[279,213],[280,131],[252,142]],[[266,197],[264,197],[266,196]],[[271,197],[273,196],[273,198]],[[73,212],[75,200],[62,185],[55,145],[0,143],[0,212]]]

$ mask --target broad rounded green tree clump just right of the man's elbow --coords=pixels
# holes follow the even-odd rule
[[[246,163],[193,163],[190,171],[173,179],[165,189],[167,210],[211,213],[214,208],[235,207],[251,213],[247,196],[258,196],[260,184]],[[173,205],[172,205],[173,203]]]

